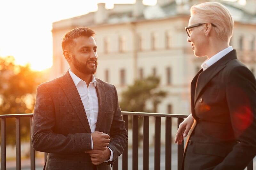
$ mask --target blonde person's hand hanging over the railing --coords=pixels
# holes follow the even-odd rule
[[[191,129],[194,123],[194,118],[190,114],[183,122],[180,123],[179,129],[177,130],[174,143],[182,144],[183,138],[188,135],[188,131]]]

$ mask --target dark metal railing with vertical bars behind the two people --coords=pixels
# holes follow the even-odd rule
[[[155,138],[154,138],[154,169],[159,170],[160,168],[160,132],[161,132],[161,117],[165,118],[165,170],[171,170],[172,160],[172,119],[177,118],[177,128],[180,123],[188,115],[174,115],[174,114],[157,114],[157,113],[141,113],[141,112],[122,112],[123,119],[126,122],[125,128],[127,133],[128,129],[128,117],[132,117],[132,170],[138,170],[138,150],[139,150],[139,117],[143,118],[143,170],[149,169],[149,117],[155,118]],[[30,118],[30,128],[33,114],[12,114],[12,115],[0,115],[1,119],[1,169],[6,169],[6,119],[16,119],[16,169],[21,169],[21,157],[20,157],[20,118]],[[178,153],[178,170],[181,169],[184,145],[177,145]],[[47,153],[44,154],[46,159]],[[30,135],[30,167],[31,170],[36,169],[35,164],[35,150],[32,147],[31,135]],[[113,165],[113,170],[118,169],[118,159]],[[247,170],[253,169],[253,160],[248,164]],[[128,144],[124,148],[122,154],[122,170],[128,170]]]

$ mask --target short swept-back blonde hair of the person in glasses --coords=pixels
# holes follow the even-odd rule
[[[190,8],[190,15],[197,15],[202,23],[212,23],[221,40],[229,43],[233,34],[234,20],[227,7],[218,2],[205,2]]]

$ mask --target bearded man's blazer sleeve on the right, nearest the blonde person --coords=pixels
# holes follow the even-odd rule
[[[114,154],[114,160],[107,162],[107,164],[112,164],[116,161],[117,157],[120,156],[123,151],[124,147],[127,143],[128,136],[127,131],[125,129],[125,122],[123,121],[122,115],[121,115],[121,109],[118,102],[116,87],[114,86],[115,95],[116,95],[116,108],[115,108],[115,114],[113,118],[113,122],[110,128],[110,142],[109,142],[109,148],[112,149]]]

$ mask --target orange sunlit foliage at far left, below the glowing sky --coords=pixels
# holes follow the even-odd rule
[[[0,57],[0,114],[32,113],[36,87],[44,81],[43,73],[29,65],[16,65],[12,56]],[[21,119],[21,140],[29,139],[29,119]],[[15,144],[15,119],[6,119],[6,143]]]

